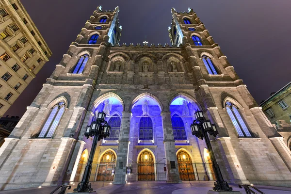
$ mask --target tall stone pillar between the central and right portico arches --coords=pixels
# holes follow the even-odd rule
[[[176,156],[175,140],[171,122],[171,113],[164,111],[162,115],[162,130],[164,136],[165,158],[167,166],[167,183],[181,183],[178,171],[178,162]]]

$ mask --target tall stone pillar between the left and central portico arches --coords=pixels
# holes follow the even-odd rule
[[[117,159],[113,184],[126,183],[126,167],[129,154],[129,130],[130,130],[130,111],[122,112],[119,143],[117,148]]]

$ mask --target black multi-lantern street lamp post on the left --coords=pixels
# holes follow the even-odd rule
[[[91,125],[87,126],[85,136],[87,139],[89,137],[94,136],[94,140],[92,143],[88,163],[85,168],[85,172],[82,178],[82,181],[78,184],[77,188],[74,189],[74,192],[81,193],[81,192],[91,192],[93,191],[93,188],[91,188],[91,183],[89,182],[91,170],[92,170],[92,162],[94,158],[94,153],[97,147],[98,141],[100,141],[103,138],[106,138],[110,134],[111,127],[108,125],[108,123],[105,121],[106,114],[104,112],[98,113],[97,116],[93,117],[93,122]],[[104,123],[104,125],[102,125]]]

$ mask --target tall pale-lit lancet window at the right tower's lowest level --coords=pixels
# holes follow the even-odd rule
[[[226,112],[238,132],[239,137],[252,137],[252,134],[244,123],[238,108],[229,101],[226,101]]]

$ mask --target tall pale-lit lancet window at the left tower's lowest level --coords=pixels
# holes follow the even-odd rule
[[[49,113],[49,117],[43,128],[41,129],[38,137],[39,138],[51,138],[57,129],[60,120],[65,112],[65,102],[58,102],[55,106],[52,107]]]

